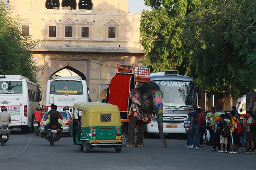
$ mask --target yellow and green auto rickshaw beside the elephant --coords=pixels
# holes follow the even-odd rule
[[[88,153],[97,146],[121,152],[123,139],[118,106],[99,102],[75,103],[72,121],[73,142],[79,150]]]

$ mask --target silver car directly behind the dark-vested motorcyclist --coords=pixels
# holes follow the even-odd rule
[[[70,112],[65,110],[65,111],[60,111],[61,112],[61,116],[63,118],[62,121],[65,122],[65,126],[63,127],[62,130],[62,134],[66,134],[68,137],[71,137],[71,126],[72,126],[72,116],[70,115]],[[40,122],[40,135],[41,138],[43,138],[45,136],[45,118],[47,116],[48,112],[45,112],[45,114],[43,115],[41,122]]]

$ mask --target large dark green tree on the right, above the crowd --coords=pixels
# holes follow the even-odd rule
[[[250,90],[236,78],[239,71],[235,70],[244,73],[249,69],[245,64],[249,58],[241,57],[241,53],[253,45],[248,37],[255,31],[255,19],[254,0],[204,0],[199,10],[187,16],[186,49],[191,51],[191,63],[202,88],[229,91],[231,84],[233,97]],[[255,67],[253,70],[256,72]]]

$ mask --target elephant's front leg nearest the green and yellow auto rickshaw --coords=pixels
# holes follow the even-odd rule
[[[135,132],[135,126],[137,121],[138,119],[133,116],[133,112],[132,112],[130,116],[130,122],[129,122],[125,147],[135,147],[134,132]]]

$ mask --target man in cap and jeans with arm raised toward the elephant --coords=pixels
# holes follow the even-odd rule
[[[187,110],[187,109],[184,109]],[[199,128],[198,128],[198,112],[197,110],[197,106],[196,105],[192,105],[192,111],[190,112],[189,116],[190,116],[190,126],[189,126],[189,149],[194,148],[193,145],[193,133],[195,136],[195,148],[194,150],[198,150],[198,146],[199,146]],[[187,110],[188,112],[190,110]]]

